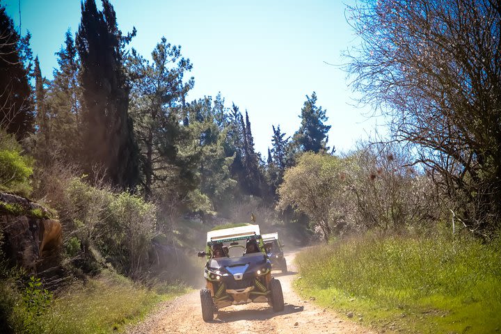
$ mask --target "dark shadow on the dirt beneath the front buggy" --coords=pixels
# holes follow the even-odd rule
[[[217,318],[214,322],[232,322],[239,320],[268,320],[278,315],[288,315],[296,312],[303,311],[303,306],[285,304],[284,310],[282,312],[273,312],[271,307],[259,308],[257,310],[232,310],[224,311],[219,310],[217,312]]]

